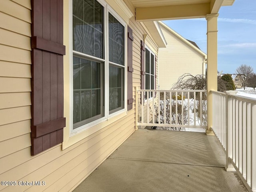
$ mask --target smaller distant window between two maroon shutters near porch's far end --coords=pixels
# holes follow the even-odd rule
[[[145,89],[146,90],[153,90],[155,87],[155,55],[154,53],[146,47],[145,53]],[[146,92],[146,99],[152,98],[153,92],[150,92],[150,96],[147,96]]]

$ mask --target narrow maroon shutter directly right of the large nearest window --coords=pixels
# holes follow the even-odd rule
[[[128,26],[128,85],[127,85],[127,110],[132,109],[132,103],[133,103],[133,97],[132,97],[132,41],[133,41],[133,36],[132,36],[132,29]]]

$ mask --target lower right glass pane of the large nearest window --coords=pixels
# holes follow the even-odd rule
[[[109,111],[124,108],[124,69],[109,67]]]

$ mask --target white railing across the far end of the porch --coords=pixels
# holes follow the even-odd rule
[[[136,90],[137,126],[207,128],[206,90]]]

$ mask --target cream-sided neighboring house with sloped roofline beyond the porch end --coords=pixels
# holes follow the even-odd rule
[[[166,48],[158,51],[159,89],[171,89],[185,73],[205,75],[207,55],[195,42],[185,39],[163,22],[158,23],[167,42]]]

